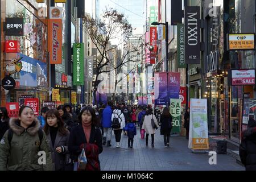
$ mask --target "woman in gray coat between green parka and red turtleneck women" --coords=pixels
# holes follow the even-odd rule
[[[69,131],[65,129],[64,122],[56,109],[47,111],[44,132],[51,147],[55,171],[72,171],[73,166],[68,152]]]

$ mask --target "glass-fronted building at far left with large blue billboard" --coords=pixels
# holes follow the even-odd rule
[[[14,78],[16,86],[3,90],[1,105],[19,102],[21,98],[38,97],[40,104],[48,99],[47,75],[47,26],[45,17],[37,16],[36,9],[47,7],[46,3],[16,0],[5,1],[2,6],[2,42],[15,45],[5,49],[1,56],[1,80],[5,76]],[[8,42],[9,41],[9,42]],[[11,42],[11,43],[10,43]]]

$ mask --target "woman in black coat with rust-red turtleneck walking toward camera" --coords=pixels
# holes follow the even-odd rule
[[[103,150],[102,135],[100,129],[97,127],[98,120],[94,109],[90,106],[84,107],[78,119],[79,125],[73,127],[69,135],[68,150],[72,159],[77,162],[82,148],[84,148],[87,158],[85,170],[100,171],[98,155],[101,154]]]

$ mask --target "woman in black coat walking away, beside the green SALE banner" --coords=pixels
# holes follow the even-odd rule
[[[164,135],[164,146],[169,147],[170,135],[172,129],[172,116],[167,107],[164,107],[163,114],[160,115],[160,134]]]

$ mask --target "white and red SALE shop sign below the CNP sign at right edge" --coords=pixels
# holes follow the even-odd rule
[[[255,69],[232,69],[232,85],[255,85]]]

